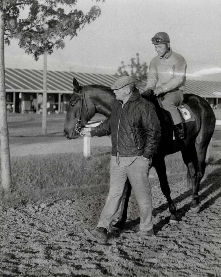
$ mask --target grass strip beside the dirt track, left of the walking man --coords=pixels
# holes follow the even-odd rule
[[[110,151],[82,154],[51,154],[11,159],[12,192],[1,191],[0,206],[15,207],[38,201],[71,199],[93,190],[108,191]]]

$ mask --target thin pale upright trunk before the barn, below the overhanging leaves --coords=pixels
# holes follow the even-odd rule
[[[47,51],[44,52],[43,66],[42,131],[47,134]]]

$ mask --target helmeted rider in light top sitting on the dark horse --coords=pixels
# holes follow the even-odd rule
[[[162,106],[170,113],[175,140],[184,139],[184,128],[177,106],[183,101],[186,61],[181,55],[172,51],[167,33],[155,34],[152,43],[158,56],[150,62],[147,84],[142,96],[145,98],[153,91],[154,95],[163,97]]]

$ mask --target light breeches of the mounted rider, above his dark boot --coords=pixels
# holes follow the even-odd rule
[[[180,112],[178,111],[177,106],[182,104],[183,99],[183,91],[177,90],[167,93],[164,96],[164,100],[161,102],[163,108],[170,113],[174,125],[177,125],[182,122]]]

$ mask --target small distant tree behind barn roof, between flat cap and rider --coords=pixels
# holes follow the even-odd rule
[[[132,76],[137,83],[141,83],[147,79],[147,64],[144,62],[140,64],[139,53],[136,53],[136,58],[130,59],[130,64],[125,65],[124,61],[121,62],[121,66],[117,69],[115,76]]]

